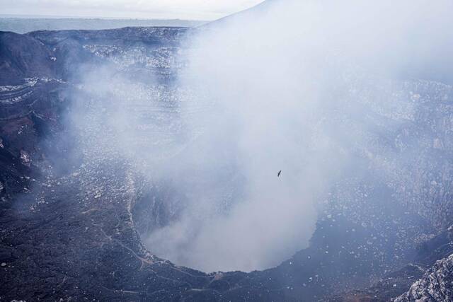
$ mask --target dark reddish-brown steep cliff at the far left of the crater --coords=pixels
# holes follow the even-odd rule
[[[10,197],[28,190],[40,141],[59,127],[64,83],[52,58],[33,37],[0,33],[0,192]]]

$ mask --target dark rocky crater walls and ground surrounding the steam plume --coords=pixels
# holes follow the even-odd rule
[[[142,173],[147,152],[124,156],[105,102],[138,91],[124,108],[140,112],[127,124],[144,141],[130,144],[180,133],[173,80],[188,31],[0,33],[0,301],[451,301],[453,88],[435,81],[349,76],[343,98],[367,116],[323,127],[366,138],[350,142],[357,173],[329,193],[309,248],[281,265],[198,272],[144,246],[179,197]],[[82,79],[93,66],[108,66],[113,87]],[[156,144],[171,153],[166,137]]]

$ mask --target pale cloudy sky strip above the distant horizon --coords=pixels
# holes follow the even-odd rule
[[[0,14],[214,20],[263,0],[0,0]]]

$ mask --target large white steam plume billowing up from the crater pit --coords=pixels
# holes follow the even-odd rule
[[[164,200],[178,219],[144,238],[149,250],[205,271],[251,271],[305,248],[320,201],[338,178],[357,172],[352,156],[367,148],[365,108],[391,108],[373,79],[443,79],[451,66],[452,6],[274,0],[195,30],[171,91],[177,101],[156,105],[150,132],[134,127],[143,122],[137,111],[114,108],[119,134],[105,143],[178,193]],[[127,101],[163,95],[94,78],[107,91],[124,88]]]

